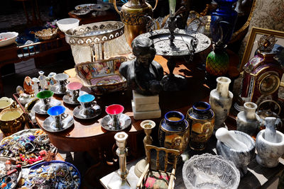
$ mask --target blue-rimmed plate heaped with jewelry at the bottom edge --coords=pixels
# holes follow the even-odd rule
[[[45,161],[30,168],[26,188],[80,188],[81,176],[75,166],[65,161]]]

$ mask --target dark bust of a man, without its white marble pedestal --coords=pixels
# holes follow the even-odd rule
[[[123,62],[119,73],[127,80],[129,88],[143,95],[155,95],[162,89],[163,67],[153,61],[155,48],[149,38],[135,38],[132,43],[133,55],[136,59]]]

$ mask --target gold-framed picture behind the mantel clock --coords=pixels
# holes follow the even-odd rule
[[[258,40],[261,38],[262,35],[274,35],[277,40],[276,44],[282,45],[284,47],[284,32],[283,31],[253,27],[249,35],[249,41],[246,44],[246,50],[244,52],[244,57],[241,60],[240,71],[243,71],[243,68],[246,62],[249,62],[249,59],[254,57],[254,54],[258,47]],[[281,86],[284,86],[284,76],[281,79]]]

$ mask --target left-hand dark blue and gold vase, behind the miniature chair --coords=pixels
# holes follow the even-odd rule
[[[185,116],[178,111],[170,111],[160,121],[159,142],[161,147],[180,150],[187,148],[190,132]]]

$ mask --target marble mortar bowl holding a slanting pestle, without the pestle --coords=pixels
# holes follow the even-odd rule
[[[244,132],[234,131],[233,135],[237,140],[246,144],[247,148],[244,150],[236,150],[230,147],[227,147],[226,144],[217,140],[217,154],[223,156],[226,159],[229,159],[234,162],[236,168],[239,169],[241,177],[243,177],[247,171],[247,166],[253,159],[256,145],[254,144],[253,138]],[[236,144],[238,145],[238,144]]]

